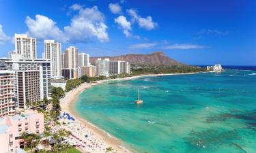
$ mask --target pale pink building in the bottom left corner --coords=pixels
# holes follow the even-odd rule
[[[23,148],[23,140],[19,139],[23,131],[44,133],[44,114],[29,109],[16,116],[0,118],[0,152],[16,152]]]

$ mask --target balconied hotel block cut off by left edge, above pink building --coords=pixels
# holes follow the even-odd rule
[[[14,72],[0,61],[0,118],[14,114]]]

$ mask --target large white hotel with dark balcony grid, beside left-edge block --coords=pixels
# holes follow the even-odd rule
[[[15,58],[15,56],[18,56]],[[16,108],[27,109],[30,103],[51,97],[51,61],[24,59],[18,54],[12,59],[0,59],[7,69],[14,72],[14,97]]]

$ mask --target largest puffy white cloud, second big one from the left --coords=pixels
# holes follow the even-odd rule
[[[70,42],[87,42],[95,37],[100,42],[109,41],[104,23],[104,14],[97,6],[79,10],[79,15],[74,16],[70,26],[64,27]]]

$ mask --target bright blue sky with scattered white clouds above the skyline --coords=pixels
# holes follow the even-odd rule
[[[90,56],[162,51],[189,65],[256,65],[254,0],[0,0],[0,57],[15,33]]]

